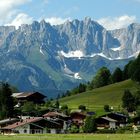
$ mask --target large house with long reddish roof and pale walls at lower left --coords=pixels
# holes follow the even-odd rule
[[[32,117],[20,120],[12,125],[1,128],[5,134],[43,134],[53,132],[60,127],[59,123],[44,119],[43,117]],[[49,130],[49,131],[48,131]]]

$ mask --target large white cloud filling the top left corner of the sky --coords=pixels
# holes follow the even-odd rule
[[[1,0],[0,1],[0,24],[5,24],[17,14],[17,7],[31,0]]]

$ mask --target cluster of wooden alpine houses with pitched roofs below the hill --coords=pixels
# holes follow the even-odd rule
[[[18,103],[15,108],[18,108],[24,102],[30,101],[35,104],[44,102],[46,96],[39,92],[31,93],[13,93],[12,96],[17,99]],[[124,129],[130,126],[134,131],[138,130],[140,118],[135,118],[130,122],[130,117],[118,113],[107,112],[102,116],[96,116],[96,112],[87,112],[75,110],[69,115],[60,110],[48,110],[42,116],[16,116],[0,120],[1,134],[57,134],[57,133],[83,133],[81,128],[86,123],[86,118],[93,116],[95,122],[90,125],[95,125],[96,132],[115,133],[116,130]],[[130,125],[131,123],[131,125]],[[132,128],[133,127],[133,128]],[[88,132],[88,131],[87,131]],[[89,131],[90,132],[90,131]]]

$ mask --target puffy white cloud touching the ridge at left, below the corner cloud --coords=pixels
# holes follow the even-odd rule
[[[15,26],[16,29],[18,29],[18,27],[21,24],[31,24],[33,22],[33,18],[30,17],[29,15],[25,14],[25,13],[19,13],[16,18],[9,24],[7,24],[8,26],[12,25]]]

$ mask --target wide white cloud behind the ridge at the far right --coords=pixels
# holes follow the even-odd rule
[[[108,30],[120,29],[127,27],[129,24],[136,22],[136,16],[123,15],[115,18],[102,18],[97,22]]]

